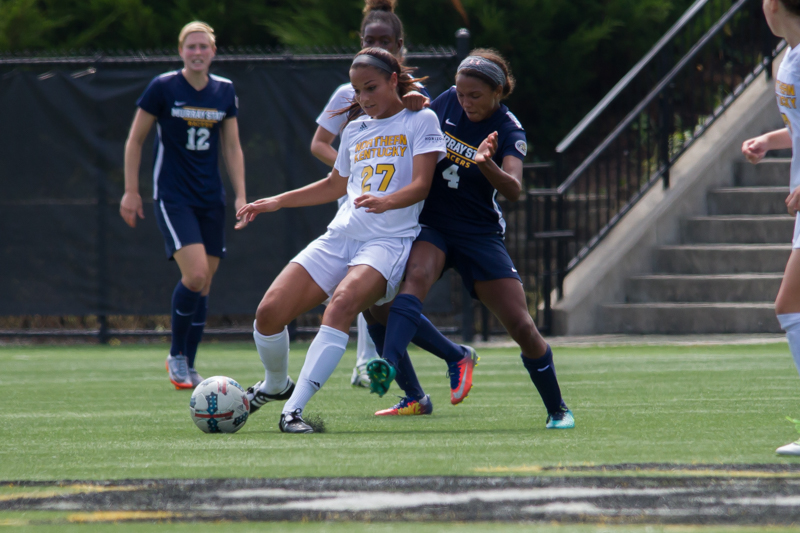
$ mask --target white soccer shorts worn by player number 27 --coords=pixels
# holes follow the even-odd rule
[[[291,262],[305,268],[311,279],[328,296],[333,296],[349,267],[371,266],[386,280],[386,294],[376,302],[381,305],[391,302],[397,296],[413,242],[413,237],[357,241],[328,230],[325,235],[306,246]]]

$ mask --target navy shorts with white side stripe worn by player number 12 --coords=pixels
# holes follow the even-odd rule
[[[198,243],[205,246],[207,255],[225,257],[224,205],[201,208],[157,200],[153,206],[167,259],[184,246]]]

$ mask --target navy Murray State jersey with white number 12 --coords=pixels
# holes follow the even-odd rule
[[[209,75],[198,91],[181,71],[162,74],[136,102],[158,119],[153,199],[208,207],[225,203],[219,175],[219,129],[237,113],[233,83]]]

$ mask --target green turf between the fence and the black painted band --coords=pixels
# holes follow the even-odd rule
[[[611,463],[791,463],[800,383],[785,344],[560,348],[556,365],[577,427],[545,412],[511,349],[482,350],[470,397],[449,404],[445,366],[412,352],[434,401],[426,417],[376,418],[394,403],[349,384],[348,352],[308,406],[327,433],[278,432],[266,406],[234,435],[189,419],[190,393],[166,379],[165,345],[0,347],[0,480],[536,473]],[[304,345],[293,345],[297,376]],[[248,386],[250,343],[207,343],[198,368]],[[393,388],[394,392],[395,389]]]

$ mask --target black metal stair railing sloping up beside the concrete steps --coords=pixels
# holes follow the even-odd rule
[[[518,254],[539,273],[532,305],[549,331],[551,293],[670,167],[766,71],[784,43],[761,0],[695,3],[557,147],[529,182]],[[527,266],[527,263],[526,263]]]

